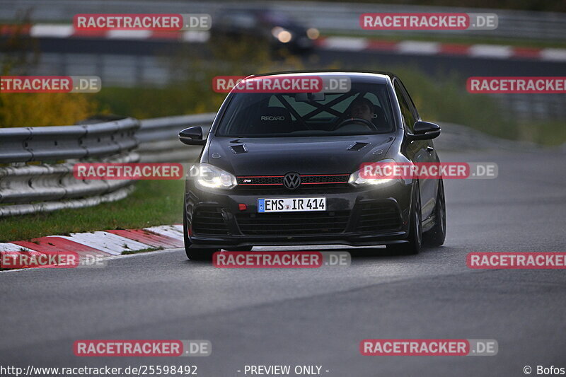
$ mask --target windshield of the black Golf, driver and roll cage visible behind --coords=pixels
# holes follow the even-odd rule
[[[216,135],[343,136],[394,129],[386,84],[352,83],[347,93],[234,93]]]

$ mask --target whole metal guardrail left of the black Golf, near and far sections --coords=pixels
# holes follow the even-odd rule
[[[178,132],[192,125],[207,132],[214,116],[0,129],[0,217],[122,199],[134,180],[77,180],[74,164],[190,161],[201,148],[182,144]]]

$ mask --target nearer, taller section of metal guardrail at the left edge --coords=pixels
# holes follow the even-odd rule
[[[136,162],[139,121],[0,129],[0,217],[125,197],[131,180],[76,180],[77,161]]]

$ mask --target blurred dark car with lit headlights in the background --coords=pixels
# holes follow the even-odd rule
[[[226,8],[214,17],[213,35],[247,37],[262,40],[273,49],[308,52],[319,37],[316,28],[308,28],[281,12],[258,9]]]

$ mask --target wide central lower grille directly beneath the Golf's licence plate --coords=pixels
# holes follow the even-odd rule
[[[300,236],[335,234],[345,231],[350,211],[236,214],[246,236]]]

